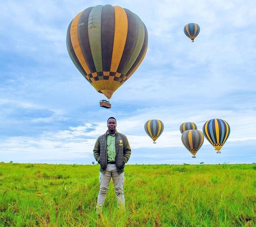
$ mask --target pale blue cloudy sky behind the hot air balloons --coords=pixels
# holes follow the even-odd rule
[[[90,6],[128,8],[145,23],[142,64],[99,107],[99,94],[66,48],[70,21]],[[132,147],[129,164],[256,162],[256,1],[2,0],[0,2],[0,162],[91,164],[108,117]],[[183,28],[195,22],[194,43]],[[230,136],[217,154],[205,139],[192,159],[180,125],[224,119]],[[153,144],[144,124],[165,129]]]

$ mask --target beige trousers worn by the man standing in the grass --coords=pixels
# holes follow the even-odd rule
[[[118,207],[124,207],[124,172],[118,175],[116,164],[107,164],[107,168],[104,174],[99,172],[99,195],[97,206],[102,207],[102,205],[104,204],[111,178],[113,179],[113,183],[115,186]]]

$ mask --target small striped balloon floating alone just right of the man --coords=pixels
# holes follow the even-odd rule
[[[155,141],[162,134],[163,128],[163,122],[156,119],[149,120],[144,125],[144,129],[151,139],[153,139],[153,143],[156,143]]]

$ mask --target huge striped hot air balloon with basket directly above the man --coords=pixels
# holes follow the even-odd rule
[[[80,12],[70,22],[66,43],[77,69],[109,99],[144,59],[148,33],[130,10],[98,5]]]

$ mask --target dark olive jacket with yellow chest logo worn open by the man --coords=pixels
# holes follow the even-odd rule
[[[116,168],[118,174],[124,172],[124,166],[128,162],[132,150],[127,137],[116,131]],[[93,155],[95,160],[100,164],[100,172],[104,173],[107,168],[107,132],[101,135],[94,146]]]

